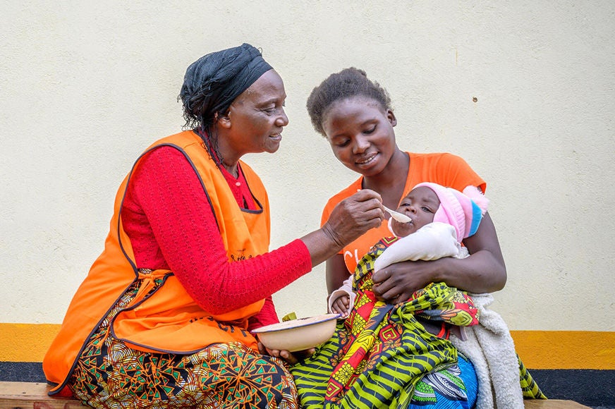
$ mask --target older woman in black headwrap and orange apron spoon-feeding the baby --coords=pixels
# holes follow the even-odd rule
[[[381,224],[379,195],[343,200],[269,252],[267,193],[240,158],[279,148],[280,76],[243,44],[190,65],[180,97],[189,130],[154,142],[118,189],[104,251],[44,358],[50,393],[98,408],[296,408],[296,359],[250,330],[278,321],[272,293]]]

